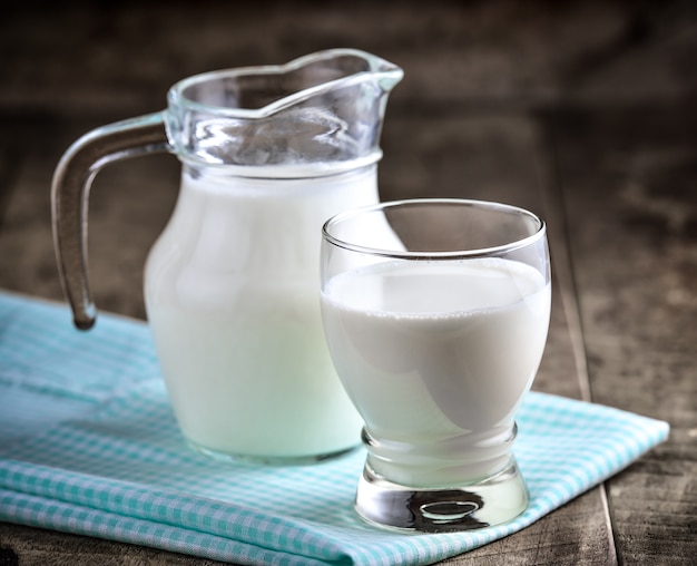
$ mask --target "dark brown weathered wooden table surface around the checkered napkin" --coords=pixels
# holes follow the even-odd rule
[[[542,214],[556,286],[534,388],[671,426],[605,485],[448,564],[696,564],[695,4],[143,4],[0,8],[0,286],[62,299],[49,185],[84,131],[163,108],[167,88],[195,72],[328,47],[375,52],[406,74],[387,109],[382,197],[498,199]],[[90,270],[101,310],[145,316],[143,262],[178,170],[160,155],[97,177]],[[146,562],[213,564],[0,524],[1,564]]]

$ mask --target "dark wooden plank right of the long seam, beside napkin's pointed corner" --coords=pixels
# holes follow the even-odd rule
[[[593,398],[673,428],[668,442],[608,482],[618,552],[627,564],[694,564],[693,105],[569,110],[553,121]]]

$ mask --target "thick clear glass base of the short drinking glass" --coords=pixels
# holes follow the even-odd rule
[[[483,481],[450,488],[411,488],[379,477],[366,463],[355,509],[367,523],[400,531],[453,533],[508,523],[528,506],[516,459]]]

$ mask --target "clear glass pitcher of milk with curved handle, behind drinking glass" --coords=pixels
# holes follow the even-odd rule
[[[376,203],[380,134],[402,69],[354,49],[284,66],[194,76],[166,110],[77,140],[51,201],[75,324],[96,318],[87,279],[87,196],[106,164],[155,152],[181,186],[145,267],[145,304],[187,441],[222,458],[314,461],[360,443],[318,301],[321,227]]]

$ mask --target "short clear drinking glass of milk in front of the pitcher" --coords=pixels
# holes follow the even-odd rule
[[[418,531],[522,513],[514,416],[549,328],[544,223],[497,203],[383,203],[330,219],[321,265],[325,336],[364,420],[357,513]]]

